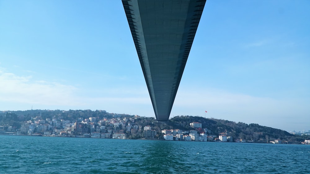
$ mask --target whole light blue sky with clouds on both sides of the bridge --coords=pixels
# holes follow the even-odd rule
[[[309,9],[207,0],[170,118],[310,130]],[[121,0],[0,0],[0,110],[31,108],[155,117]]]

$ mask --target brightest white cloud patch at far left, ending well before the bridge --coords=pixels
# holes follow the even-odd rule
[[[42,105],[80,104],[74,97],[73,86],[33,81],[31,76],[0,72],[0,101]]]

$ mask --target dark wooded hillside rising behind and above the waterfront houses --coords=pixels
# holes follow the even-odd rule
[[[159,134],[163,129],[181,129],[191,130],[191,122],[200,122],[202,128],[209,129],[209,135],[218,136],[219,133],[228,133],[233,139],[242,138],[246,140],[254,140],[256,142],[266,142],[275,139],[281,139],[282,141],[304,141],[310,139],[310,136],[299,136],[290,134],[284,130],[275,129],[271,127],[261,126],[258,124],[245,124],[242,122],[233,122],[228,120],[219,120],[214,118],[204,118],[197,116],[176,116],[166,122],[158,122],[154,118],[135,117],[128,114],[116,114],[108,113],[106,111],[96,110],[28,110],[28,111],[3,111],[0,112],[0,126],[4,126],[7,129],[11,126],[12,131],[19,130],[21,125],[26,121],[35,119],[52,119],[57,117],[59,120],[68,120],[75,122],[78,118],[87,119],[89,117],[96,118],[97,121],[104,118],[132,118],[134,121],[130,121],[131,125],[141,125],[142,127],[150,125],[152,129],[155,129]],[[108,125],[108,124],[107,124]],[[113,125],[111,125],[113,126]],[[198,132],[202,132],[202,129],[197,129]],[[139,136],[135,136],[139,138]]]

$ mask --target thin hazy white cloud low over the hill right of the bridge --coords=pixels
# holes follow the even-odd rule
[[[235,94],[216,89],[179,89],[171,116],[194,115],[214,117],[230,121],[258,123],[270,127],[294,129],[290,123],[276,124],[284,117],[299,117],[307,120],[310,108],[309,100],[274,99],[255,97],[246,94]],[[190,111],[190,113],[188,112]],[[306,127],[309,121],[301,122]]]

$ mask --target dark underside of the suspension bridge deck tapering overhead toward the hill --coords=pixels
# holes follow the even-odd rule
[[[167,121],[206,0],[122,0],[156,119]]]

